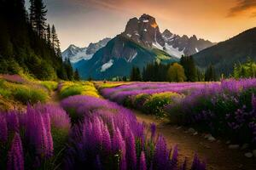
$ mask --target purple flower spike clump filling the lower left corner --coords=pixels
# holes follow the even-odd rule
[[[59,106],[27,105],[26,111],[0,113],[0,129],[0,169],[54,169],[70,121]]]

